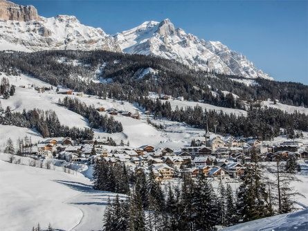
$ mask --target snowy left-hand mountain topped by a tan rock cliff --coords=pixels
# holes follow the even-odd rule
[[[0,50],[122,50],[101,28],[84,26],[74,16],[45,18],[33,6],[0,2]]]

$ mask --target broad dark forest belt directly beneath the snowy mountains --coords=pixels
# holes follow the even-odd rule
[[[67,62],[59,62],[60,57]],[[74,66],[72,60],[78,60],[80,65]],[[157,73],[139,78],[142,71],[149,67]],[[304,84],[256,79],[257,84],[246,86],[230,80],[240,77],[194,71],[173,60],[144,55],[102,50],[51,50],[30,54],[2,52],[0,70],[11,75],[26,73],[54,86],[62,85],[75,91],[118,100],[136,99],[153,91],[237,109],[243,108],[242,100],[256,102],[268,98],[308,107],[308,86]],[[82,76],[83,80],[78,76]],[[112,82],[102,84],[91,81],[99,77],[110,78]],[[223,91],[234,93],[239,98]]]

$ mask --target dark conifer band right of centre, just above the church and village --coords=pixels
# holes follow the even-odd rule
[[[214,110],[206,111],[200,106],[176,107],[172,111],[170,102],[161,100],[140,100],[141,107],[154,113],[154,118],[168,118],[177,122],[185,122],[199,129],[206,129],[206,122],[210,131],[230,134],[233,136],[253,137],[260,140],[271,140],[279,136],[280,128],[287,131],[289,138],[296,134],[294,129],[308,131],[308,115],[304,113],[287,113],[274,108],[248,109],[247,116],[223,113]]]

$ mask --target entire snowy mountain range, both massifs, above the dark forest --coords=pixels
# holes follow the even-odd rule
[[[204,41],[174,28],[169,19],[145,21],[116,35],[84,26],[74,16],[45,18],[33,6],[0,1],[0,50],[109,50],[154,55],[203,71],[273,79],[220,41]]]

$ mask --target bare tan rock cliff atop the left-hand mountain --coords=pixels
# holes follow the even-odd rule
[[[15,21],[41,20],[34,6],[19,6],[10,1],[0,1],[0,19]]]

